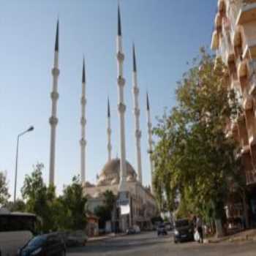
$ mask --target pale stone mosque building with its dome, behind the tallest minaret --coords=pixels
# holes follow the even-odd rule
[[[102,168],[97,184],[86,182],[86,196],[89,198],[89,211],[94,212],[97,206],[104,204],[103,193],[107,190],[112,191],[116,198],[119,195],[120,181],[120,159],[111,159]],[[150,187],[143,187],[137,178],[132,165],[127,165],[127,198],[129,200],[129,214],[127,214],[127,223],[121,223],[121,210],[116,201],[116,210],[113,212],[112,227],[113,231],[125,231],[127,227],[138,225],[140,229],[151,229],[151,219],[157,216],[157,203],[151,194]]]

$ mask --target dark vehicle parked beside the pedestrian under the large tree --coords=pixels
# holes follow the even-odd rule
[[[194,241],[194,228],[188,219],[178,219],[174,224],[174,243]]]

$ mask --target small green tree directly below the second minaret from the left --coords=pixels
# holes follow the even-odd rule
[[[69,230],[83,230],[86,228],[87,198],[83,193],[80,177],[72,178],[72,184],[64,187],[63,195],[59,198],[63,212],[61,222]]]

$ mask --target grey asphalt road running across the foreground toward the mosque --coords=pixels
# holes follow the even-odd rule
[[[255,242],[243,244],[174,244],[172,236],[157,237],[156,233],[91,241],[86,246],[72,248],[68,256],[255,256]]]

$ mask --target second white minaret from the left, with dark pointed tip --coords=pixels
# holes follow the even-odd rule
[[[83,59],[83,75],[82,75],[82,96],[81,96],[81,167],[80,167],[80,176],[82,184],[86,181],[86,68]]]

